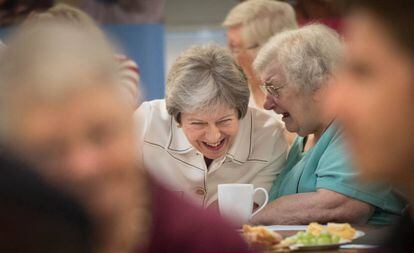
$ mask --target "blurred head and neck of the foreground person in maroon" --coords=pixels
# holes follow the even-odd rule
[[[136,236],[137,143],[111,46],[65,23],[28,25],[0,57],[0,141],[76,194],[107,250]],[[133,227],[131,229],[125,228]],[[111,248],[114,247],[114,248]]]

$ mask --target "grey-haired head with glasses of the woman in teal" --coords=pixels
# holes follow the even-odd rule
[[[323,25],[272,37],[254,61],[267,94],[265,109],[281,114],[290,132],[323,132],[333,116],[323,113],[322,101],[341,55],[340,38]]]

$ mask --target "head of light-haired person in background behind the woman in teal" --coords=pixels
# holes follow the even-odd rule
[[[230,51],[243,71],[253,76],[252,63],[261,46],[273,35],[297,27],[293,8],[273,0],[248,0],[230,10],[227,28]]]

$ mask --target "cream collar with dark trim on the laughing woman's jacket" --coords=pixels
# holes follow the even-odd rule
[[[239,121],[239,130],[226,157],[238,163],[245,163],[252,150],[252,133],[253,117],[252,112],[248,110],[246,116]],[[178,127],[178,123],[173,117],[171,117],[170,122],[170,137],[167,143],[167,149],[179,154],[185,154],[195,150],[187,140],[183,129]]]

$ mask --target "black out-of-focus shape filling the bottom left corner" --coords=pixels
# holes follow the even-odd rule
[[[28,166],[5,151],[0,155],[0,252],[90,253],[85,209]]]

